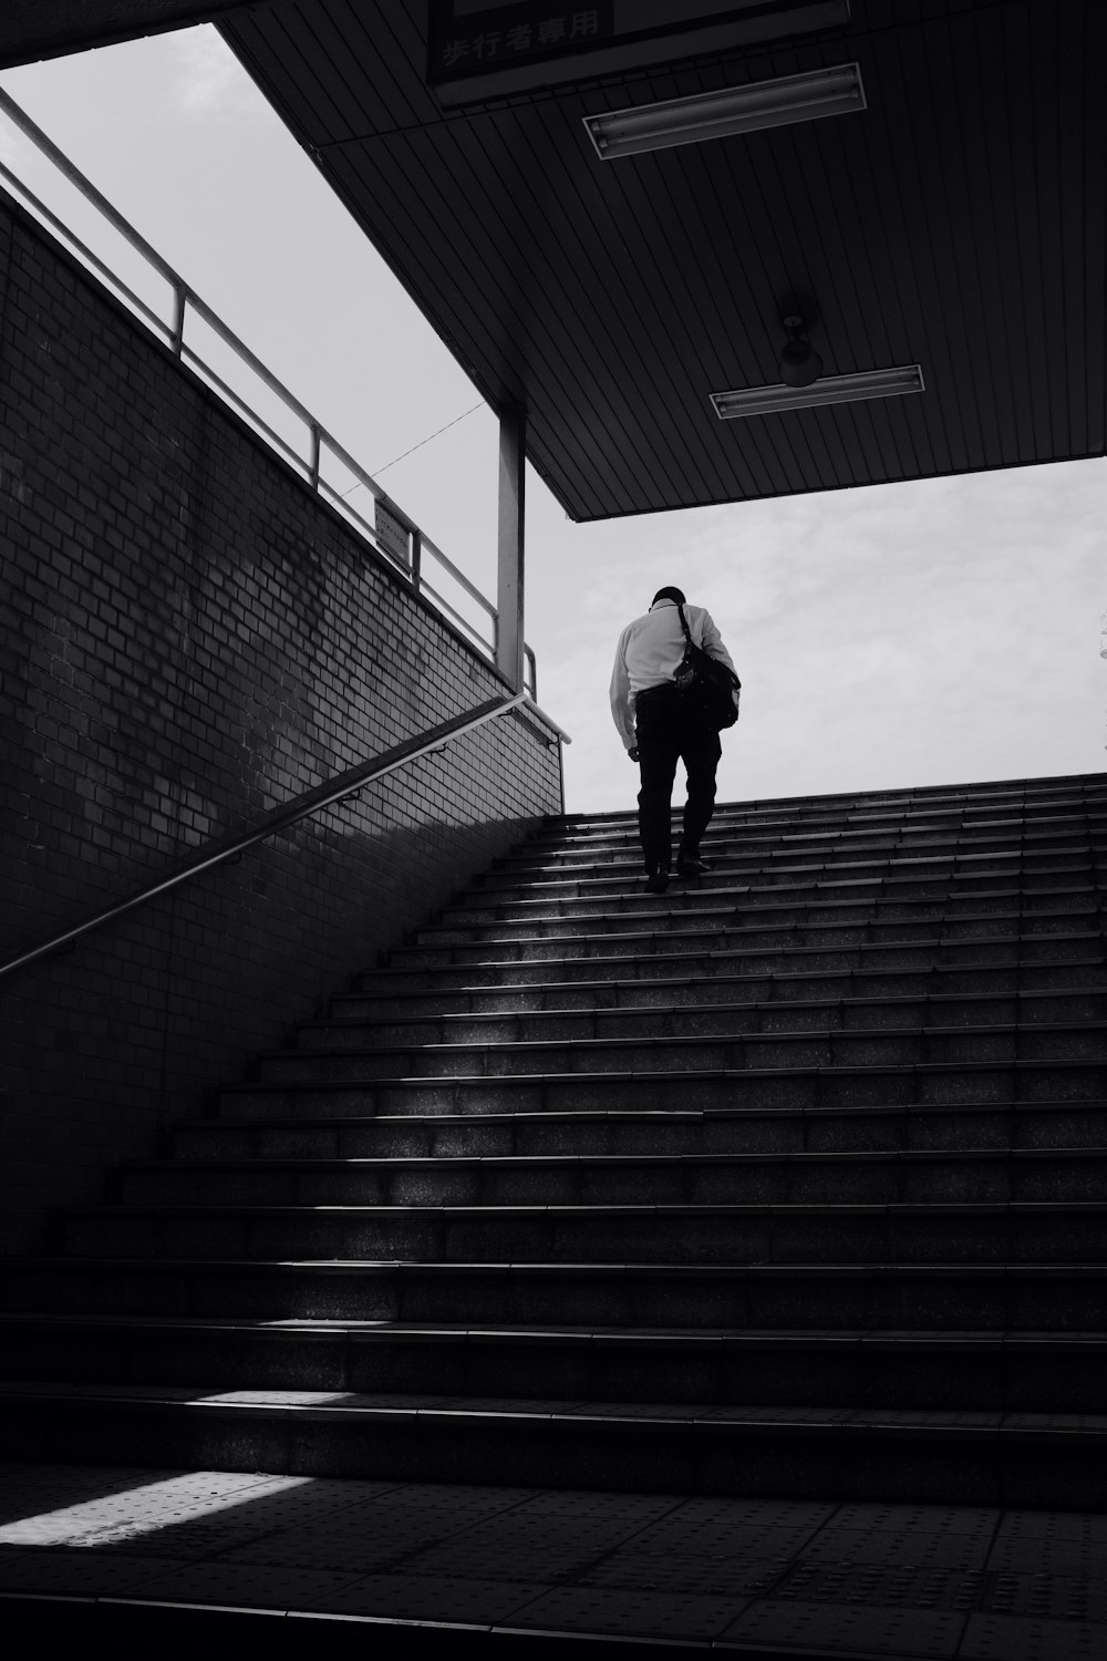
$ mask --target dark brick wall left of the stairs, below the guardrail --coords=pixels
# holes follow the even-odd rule
[[[2,194],[0,327],[8,957],[503,683]],[[559,807],[508,716],[0,980],[8,1249]]]

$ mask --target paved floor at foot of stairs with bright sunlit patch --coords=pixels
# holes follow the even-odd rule
[[[1107,1516],[3,1463],[0,1593],[1104,1661]]]

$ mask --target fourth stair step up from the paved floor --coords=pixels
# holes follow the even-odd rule
[[[158,1257],[529,1262],[1095,1262],[1107,1208],[1006,1204],[533,1204],[75,1208],[66,1251]]]

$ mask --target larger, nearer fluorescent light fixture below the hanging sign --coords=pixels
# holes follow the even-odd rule
[[[690,98],[637,105],[634,110],[586,115],[584,126],[601,161],[612,161],[642,149],[699,145],[705,138],[757,133],[763,126],[817,121],[825,115],[850,115],[863,108],[860,66],[840,63],[833,70],[782,75],[775,81],[752,81],[745,86],[724,86],[717,93],[694,93]]]

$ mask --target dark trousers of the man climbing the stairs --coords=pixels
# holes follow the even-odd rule
[[[672,782],[677,761],[689,774],[680,852],[694,855],[715,806],[715,767],[722,756],[719,733],[702,714],[687,709],[675,686],[651,686],[634,701],[637,759],[642,789],[637,824],[646,870],[669,870]]]

